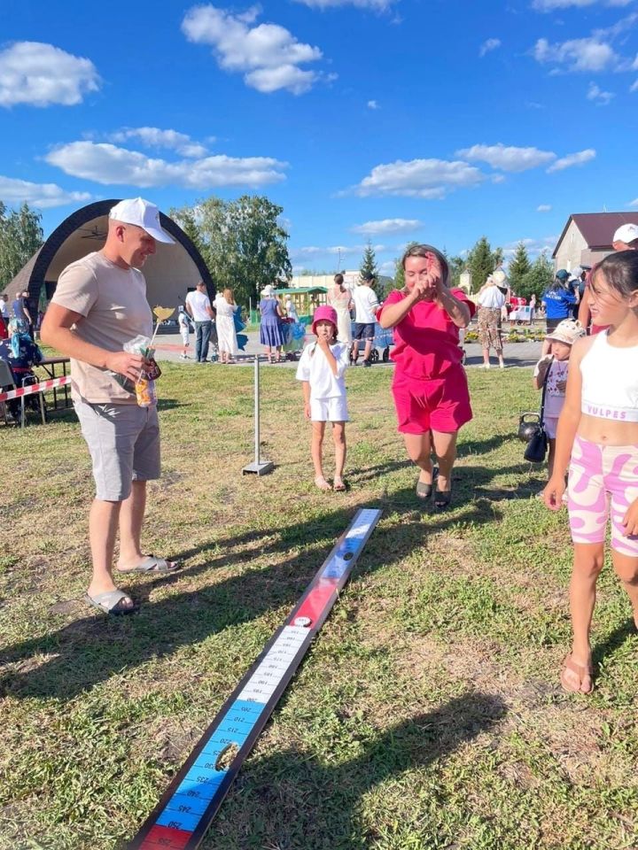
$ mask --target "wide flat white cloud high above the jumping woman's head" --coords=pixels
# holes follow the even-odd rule
[[[445,197],[462,186],[476,186],[485,180],[478,168],[467,162],[446,159],[412,159],[375,166],[354,188],[362,197],[369,195],[402,195],[429,200]]]

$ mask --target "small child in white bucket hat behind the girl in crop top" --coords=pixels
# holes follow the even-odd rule
[[[549,437],[548,468],[550,478],[554,471],[556,426],[564,405],[570,354],[572,353],[572,345],[581,336],[585,336],[585,328],[580,324],[580,321],[576,319],[560,321],[556,328],[545,336],[546,342],[549,343],[549,352],[541,357],[534,367],[533,384],[536,390],[542,389],[547,377],[543,425]]]

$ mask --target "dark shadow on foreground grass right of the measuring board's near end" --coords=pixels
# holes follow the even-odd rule
[[[350,752],[361,754],[341,761],[338,753],[344,746],[336,742],[327,748],[333,751],[337,764],[320,764],[310,753],[293,748],[261,761],[249,761],[224,804],[222,823],[215,824],[214,835],[211,832],[202,847],[363,848],[382,834],[387,841],[393,831],[394,840],[400,839],[397,819],[401,821],[401,815],[415,824],[413,830],[427,829],[427,813],[437,802],[430,794],[422,800],[421,811],[414,810],[418,803],[414,802],[416,795],[412,797],[408,814],[401,804],[399,811],[385,812],[374,812],[369,806],[374,817],[365,822],[359,815],[361,799],[377,785],[395,777],[398,780],[405,771],[427,769],[445,759],[459,746],[493,730],[506,713],[499,696],[468,692],[371,740],[357,736],[356,724],[347,723],[346,718],[342,731],[353,730],[350,735],[346,732]],[[415,778],[411,779],[413,783]],[[423,786],[427,787],[426,780]],[[402,792],[405,788],[396,793]],[[440,805],[445,805],[445,800],[440,800]],[[426,838],[425,834],[418,837]],[[409,838],[416,841],[414,832]]]

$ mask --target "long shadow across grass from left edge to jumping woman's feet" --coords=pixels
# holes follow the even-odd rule
[[[471,493],[471,483],[485,481],[487,475],[493,474],[483,468],[472,469],[471,482],[464,488],[465,497]],[[462,493],[463,488],[459,489],[459,494]],[[386,515],[398,512],[401,522],[372,535],[362,553],[358,567],[360,575],[391,566],[415,548],[426,548],[432,534],[458,523],[478,525],[498,521],[501,515],[486,499],[467,501],[444,513],[435,513],[429,508],[432,513],[424,515],[418,510],[411,488],[371,499],[362,506],[381,508]],[[248,530],[212,539],[206,545],[181,553],[184,560],[195,555],[206,556],[207,550],[214,550],[215,555],[175,576],[164,579],[149,576],[136,583],[131,592],[142,603],[138,614],[87,616],[43,637],[8,647],[0,653],[0,663],[17,664],[18,667],[5,671],[0,679],[0,694],[11,693],[25,699],[36,695],[73,699],[123,668],[135,668],[152,658],[175,653],[182,646],[198,644],[214,633],[251,622],[278,607],[292,608],[330,553],[335,538],[351,521],[353,510],[348,506],[311,522],[292,521],[268,534],[268,542],[258,551],[232,552],[233,547],[261,537]],[[285,557],[281,560],[283,553]],[[268,556],[278,562],[268,563]],[[262,565],[251,568],[250,562],[255,559],[261,560]],[[241,573],[196,591],[176,592],[168,599],[149,601],[157,582],[179,583],[183,578],[206,573],[211,568],[233,565],[243,567]],[[126,589],[126,585],[124,587]],[[32,667],[32,657],[39,654],[52,657]]]

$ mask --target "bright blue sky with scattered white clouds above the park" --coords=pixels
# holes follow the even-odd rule
[[[293,267],[638,207],[638,0],[0,5],[0,199],[267,195]]]

